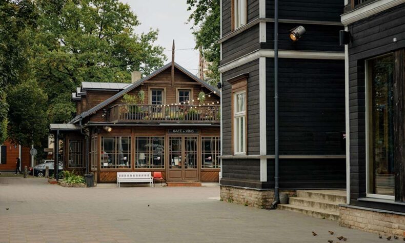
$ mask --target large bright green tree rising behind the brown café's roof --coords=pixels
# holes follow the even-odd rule
[[[130,82],[163,65],[158,31],[136,34],[140,23],[118,0],[39,1],[34,69],[49,96],[51,122],[67,122],[75,110],[70,94],[81,82]]]

